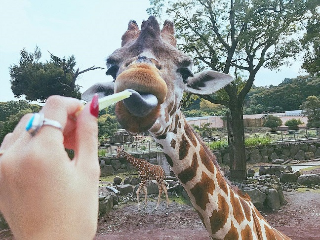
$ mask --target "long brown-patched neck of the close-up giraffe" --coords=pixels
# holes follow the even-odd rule
[[[239,190],[229,185],[215,160],[182,114],[156,141],[212,239],[275,239],[274,230]],[[263,226],[263,230],[260,226]],[[260,237],[259,237],[260,236]],[[273,236],[273,237],[270,237]]]

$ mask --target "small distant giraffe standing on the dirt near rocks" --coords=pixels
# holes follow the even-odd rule
[[[156,210],[158,210],[158,207],[160,205],[160,197],[162,194],[162,191],[165,193],[165,197],[167,200],[167,207],[169,206],[169,198],[168,198],[168,191],[165,187],[165,173],[161,166],[151,164],[150,162],[143,160],[143,159],[137,159],[133,157],[132,155],[126,153],[124,149],[121,149],[120,146],[117,148],[117,158],[123,157],[125,158],[132,166],[138,169],[139,171],[139,177],[141,179],[141,183],[139,185],[139,188],[136,192],[137,200],[138,200],[138,211],[140,211],[140,202],[139,202],[139,193],[141,189],[143,188],[143,192],[145,194],[145,204],[143,209],[147,208],[147,180],[156,180],[159,188],[159,196],[158,196],[158,202],[156,206]]]

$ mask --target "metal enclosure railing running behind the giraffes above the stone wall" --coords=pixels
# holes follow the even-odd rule
[[[287,130],[275,131],[264,133],[250,133],[244,134],[244,138],[269,138],[271,143],[279,142],[294,142],[302,140],[320,139],[320,128],[300,129],[300,130]],[[227,136],[209,137],[203,139],[205,142],[224,140],[228,142]],[[142,140],[126,143],[103,144],[99,145],[99,157],[115,156],[117,155],[117,147],[124,147],[125,151],[129,154],[160,152],[162,149],[155,140]]]

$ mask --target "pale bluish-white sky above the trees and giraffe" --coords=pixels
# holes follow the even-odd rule
[[[9,66],[18,63],[20,50],[33,52],[38,45],[40,61],[49,52],[68,58],[75,55],[76,68],[105,68],[109,54],[121,46],[129,20],[139,26],[148,19],[149,0],[0,0],[0,102],[19,100],[10,88]],[[164,22],[161,19],[160,22]],[[299,59],[280,72],[259,70],[256,86],[278,85],[285,78],[306,73]],[[96,82],[111,81],[106,69],[81,74],[76,83],[85,91]],[[20,99],[24,99],[23,97]]]

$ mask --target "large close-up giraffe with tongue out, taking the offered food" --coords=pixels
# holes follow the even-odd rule
[[[121,47],[107,58],[106,74],[114,81],[94,84],[82,99],[132,89],[130,98],[116,104],[120,124],[131,135],[149,131],[155,138],[211,240],[290,239],[224,178],[214,155],[181,113],[183,92],[208,95],[233,78],[210,70],[193,74],[192,59],[176,48],[171,21],[160,30],[150,16],[140,30],[131,20],[121,40]]]

